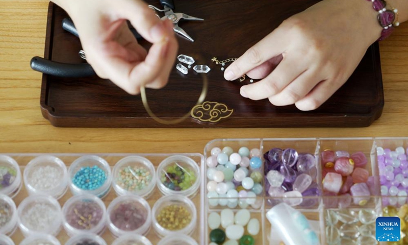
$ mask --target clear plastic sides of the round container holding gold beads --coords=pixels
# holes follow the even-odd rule
[[[187,224],[187,226],[179,230],[169,230],[159,224],[159,215],[161,214],[163,209],[166,209],[169,206],[183,207],[187,210],[190,217],[190,222]],[[160,198],[153,206],[151,213],[153,229],[160,237],[165,237],[174,232],[190,235],[197,225],[197,210],[194,206],[194,203],[189,198],[184,197],[183,195],[167,195]]]

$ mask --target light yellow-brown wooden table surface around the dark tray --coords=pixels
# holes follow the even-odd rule
[[[0,0],[0,152],[202,153],[215,138],[408,136],[408,24],[380,43],[385,107],[368,128],[79,129],[55,128],[40,112],[47,1]]]

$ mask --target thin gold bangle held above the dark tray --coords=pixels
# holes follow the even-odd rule
[[[197,103],[194,105],[200,105],[204,102],[204,100],[206,99],[207,96],[207,92],[208,92],[208,78],[207,76],[205,76],[204,74],[201,74],[202,76],[202,90],[201,90],[201,94],[198,97],[198,101]],[[144,88],[144,86],[140,87],[140,95],[142,96],[142,103],[144,106],[144,109],[146,110],[147,114],[149,114],[149,116],[154,119],[155,121],[159,122],[159,124],[164,124],[164,125],[172,125],[172,124],[179,124],[180,122],[184,121],[186,118],[188,118],[191,114],[191,110],[185,114],[184,116],[174,119],[174,120],[164,120],[161,119],[159,117],[157,117],[155,115],[155,113],[153,113],[149,107],[149,104],[147,103],[147,96],[146,96],[146,89]],[[193,108],[194,108],[193,107]]]

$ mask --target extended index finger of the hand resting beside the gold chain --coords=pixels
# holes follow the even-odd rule
[[[274,30],[264,39],[249,48],[240,58],[225,69],[224,78],[236,80],[253,68],[284,52],[285,42],[279,39],[279,29]],[[282,36],[281,36],[282,37]]]

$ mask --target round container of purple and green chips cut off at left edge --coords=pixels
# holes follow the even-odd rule
[[[11,157],[0,155],[0,194],[14,198],[21,189],[21,171]]]

